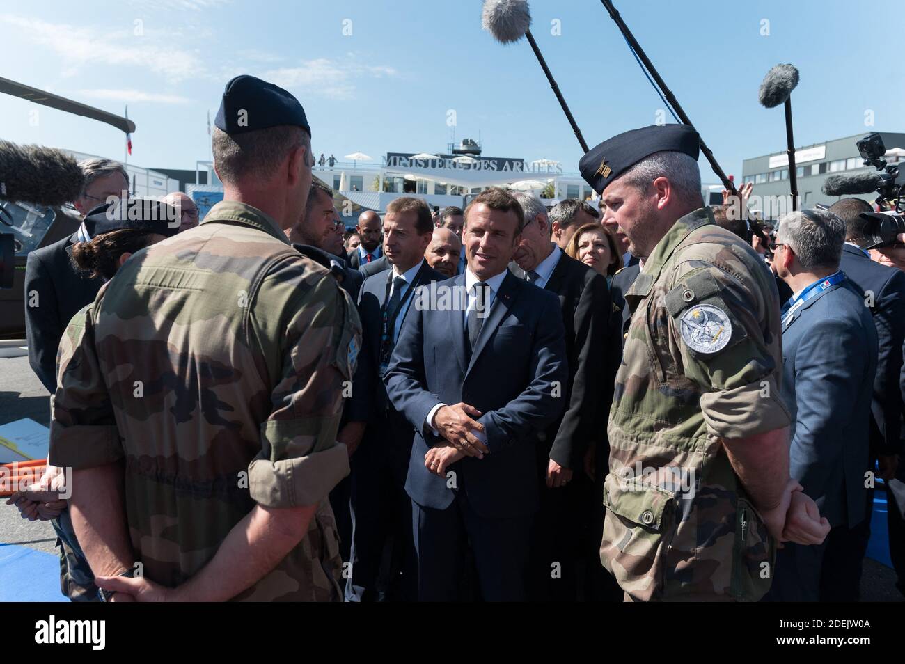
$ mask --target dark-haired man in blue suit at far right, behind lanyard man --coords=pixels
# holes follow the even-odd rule
[[[871,204],[858,198],[843,198],[829,211],[845,223],[845,244],[840,268],[862,293],[877,328],[877,377],[873,383],[870,428],[870,457],[873,470],[879,460],[880,476],[889,482],[896,472],[901,451],[902,396],[898,389],[902,370],[902,343],[905,341],[905,274],[871,260],[860,243],[864,237],[862,213],[872,212]],[[873,486],[867,489],[867,514],[861,524],[846,531],[835,529],[827,537],[824,555],[822,602],[857,602],[862,560],[871,538]]]

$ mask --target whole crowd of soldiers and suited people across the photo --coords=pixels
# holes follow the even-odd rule
[[[52,465],[9,502],[52,520],[63,593],[858,600],[875,479],[905,479],[905,259],[862,249],[870,203],[707,207],[666,125],[582,158],[595,204],[403,196],[347,231],[310,140],[237,77],[203,223],[111,203],[91,160],[79,231],[30,254]]]

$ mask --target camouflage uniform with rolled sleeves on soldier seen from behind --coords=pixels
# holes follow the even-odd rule
[[[51,459],[123,461],[149,579],[203,567],[255,506],[318,504],[300,544],[235,600],[339,598],[327,494],[361,326],[352,301],[277,223],[236,202],[139,251],[72,319],[52,399]]]

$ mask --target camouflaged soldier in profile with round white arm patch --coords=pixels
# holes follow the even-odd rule
[[[643,261],[625,294],[600,548],[633,601],[757,601],[776,540],[828,530],[789,479],[775,281],[701,208],[698,150],[693,129],[654,126],[580,166]]]

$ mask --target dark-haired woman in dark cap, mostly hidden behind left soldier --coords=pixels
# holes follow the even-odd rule
[[[166,240],[179,230],[179,214],[171,205],[154,199],[134,198],[95,208],[85,219],[90,240],[72,247],[71,261],[77,270],[90,277],[110,281],[132,254],[145,247]],[[77,335],[86,316],[92,315],[94,302],[72,317],[63,332],[61,344]],[[58,367],[59,368],[59,367]],[[57,384],[60,384],[59,377]],[[59,389],[59,388],[58,388]],[[6,501],[19,508],[23,518],[31,521],[52,521],[60,546],[62,593],[73,602],[98,601],[88,561],[81,551],[75,529],[67,509],[68,478],[62,468],[47,465],[41,479],[24,490],[16,491]]]

